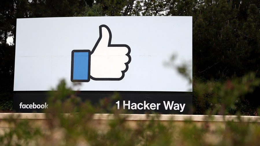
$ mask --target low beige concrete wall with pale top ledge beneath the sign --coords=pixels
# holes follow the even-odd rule
[[[64,114],[65,116],[73,116],[72,114]],[[259,122],[259,116],[222,116],[222,115],[141,115],[141,114],[120,114],[121,117],[124,117],[127,120],[127,123],[130,126],[135,127],[137,122],[146,122],[148,120],[154,119],[161,121],[162,123],[168,123],[174,121],[174,123],[183,125],[185,121],[193,121],[198,125],[200,124],[210,124],[212,127],[224,125],[226,121],[235,121],[239,122]],[[44,113],[0,113],[0,131],[6,130],[8,128],[14,127],[9,125],[6,121],[7,119],[12,118],[15,120],[27,119],[34,125],[41,125],[44,128],[44,123],[47,120],[52,120],[50,116],[47,116]],[[238,119],[239,118],[239,119]],[[94,114],[93,123],[98,124],[99,128],[106,128],[106,123],[108,120],[113,120],[113,114]]]

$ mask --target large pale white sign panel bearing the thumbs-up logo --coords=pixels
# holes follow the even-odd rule
[[[191,16],[17,19],[14,91],[192,91],[172,55],[192,69]]]

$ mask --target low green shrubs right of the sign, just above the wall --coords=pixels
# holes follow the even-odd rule
[[[258,115],[259,104],[246,98],[259,88],[260,79],[254,73],[225,81],[194,81],[194,114],[207,115]],[[251,99],[256,99],[253,97]]]

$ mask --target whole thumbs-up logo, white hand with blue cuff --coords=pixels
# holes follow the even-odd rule
[[[112,33],[107,25],[99,26],[99,39],[92,51],[71,52],[72,82],[120,81],[131,61],[131,49],[126,44],[111,44]]]

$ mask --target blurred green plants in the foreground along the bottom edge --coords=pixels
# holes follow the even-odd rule
[[[246,88],[254,85],[249,82],[255,83],[250,77],[251,75],[241,81],[244,85],[248,85]],[[233,85],[233,82],[227,83],[226,86],[237,85]],[[218,83],[208,86],[218,86]],[[210,122],[213,117],[209,116],[206,121],[194,122],[187,119],[182,122],[174,119],[159,121],[157,120],[159,115],[147,115],[151,120],[129,121],[126,120],[127,115],[120,115],[123,111],[118,111],[116,107],[109,104],[109,100],[116,99],[119,95],[105,98],[98,105],[93,106],[90,102],[82,102],[75,96],[75,91],[66,87],[64,81],[56,90],[49,94],[51,104],[45,111],[48,114],[44,121],[37,124],[33,119],[19,119],[15,116],[1,119],[1,124],[5,123],[11,128],[1,128],[0,145],[260,145],[260,119],[257,120],[258,122],[247,122],[238,116],[236,121]],[[230,90],[220,89],[223,95]],[[243,90],[240,89],[242,93]],[[211,93],[214,94],[214,91],[212,90]],[[232,104],[227,103],[224,108],[229,106]],[[114,119],[93,119],[94,113],[99,113],[104,108],[110,109]],[[215,108],[213,111],[221,111],[221,109]],[[72,114],[60,114],[63,112]]]

